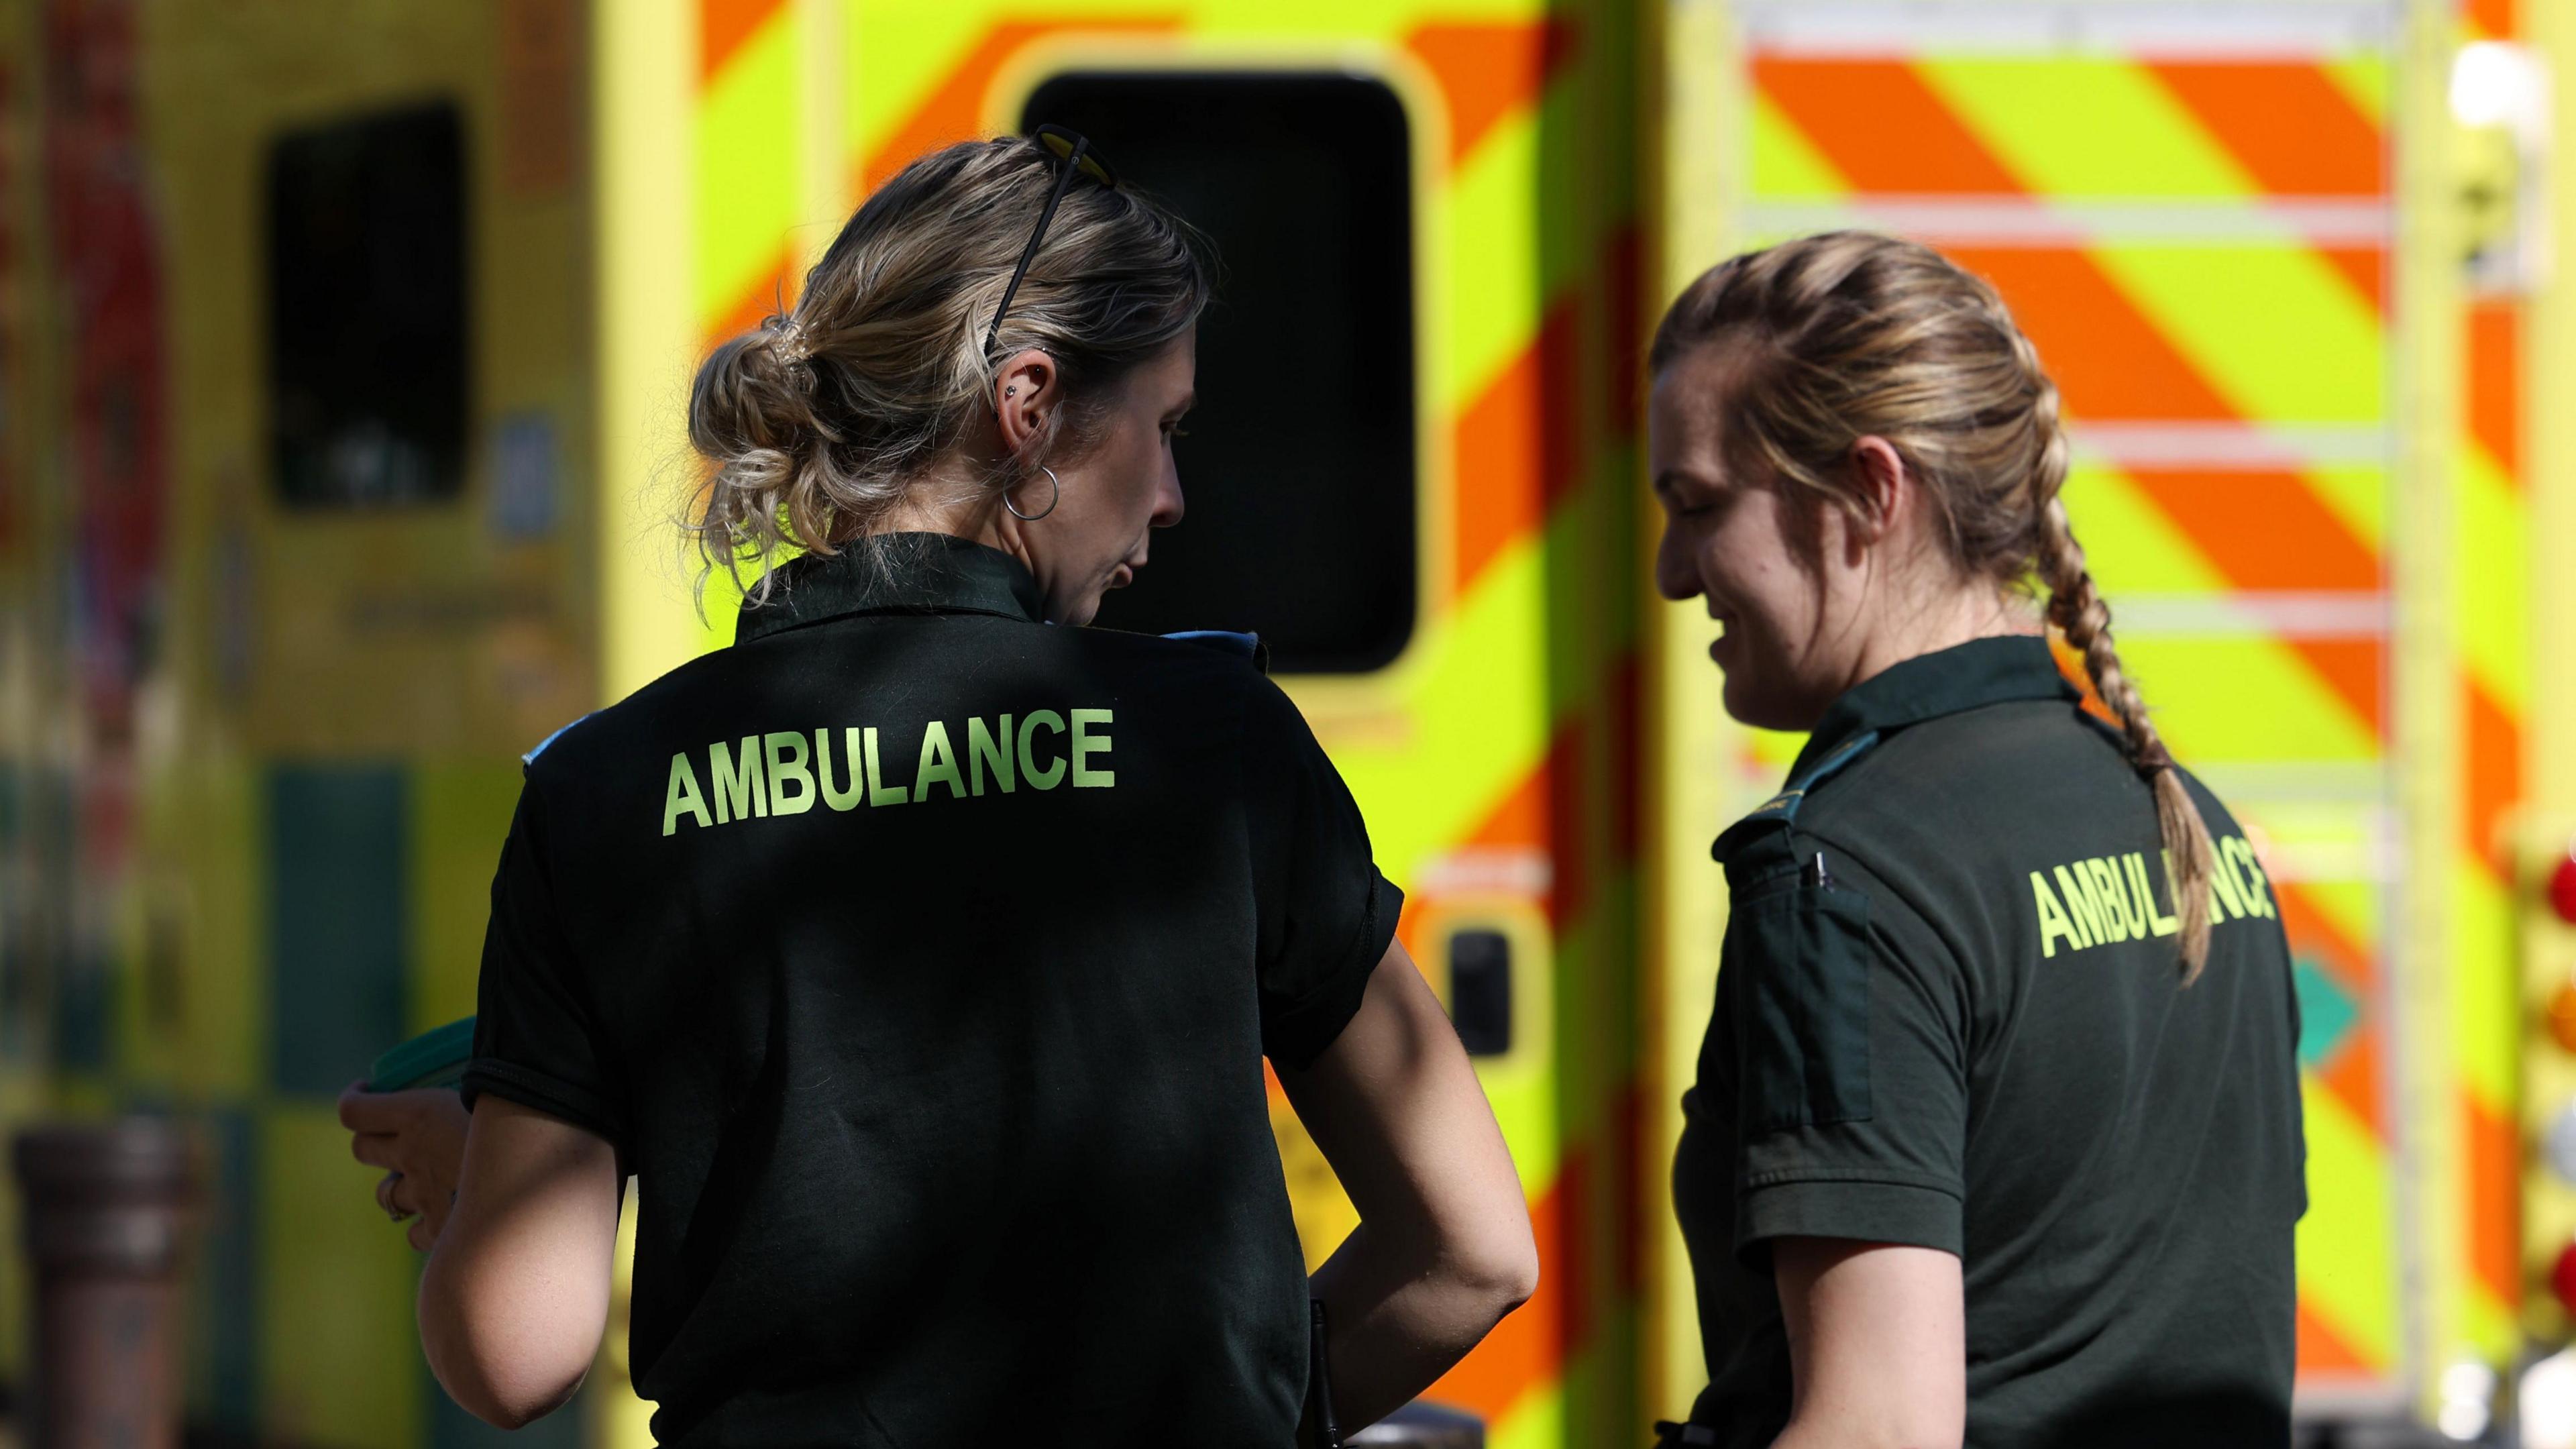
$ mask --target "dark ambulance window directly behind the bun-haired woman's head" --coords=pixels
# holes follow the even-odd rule
[[[1414,237],[1404,106],[1337,72],[1072,72],[1025,124],[1092,139],[1216,242],[1190,513],[1113,629],[1252,629],[1275,670],[1360,673],[1414,632]]]

